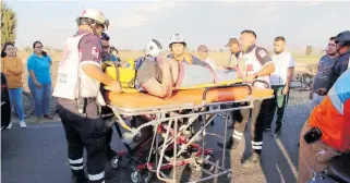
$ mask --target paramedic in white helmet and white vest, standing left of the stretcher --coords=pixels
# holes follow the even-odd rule
[[[101,66],[101,32],[108,28],[104,14],[86,9],[76,19],[79,30],[68,38],[58,69],[53,96],[68,141],[68,157],[75,182],[85,181],[83,149],[87,152],[87,174],[92,183],[105,182],[106,126],[100,112],[100,83],[121,91],[118,82]]]

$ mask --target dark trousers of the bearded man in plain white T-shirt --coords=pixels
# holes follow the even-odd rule
[[[265,129],[270,129],[271,123],[275,117],[275,111],[277,109],[277,119],[276,119],[276,129],[280,129],[283,123],[283,115],[285,115],[285,108],[288,103],[288,97],[289,94],[283,95],[282,89],[285,86],[278,85],[278,86],[271,86],[274,89],[274,98],[268,99],[268,108],[267,108],[267,114],[266,114],[266,123]]]

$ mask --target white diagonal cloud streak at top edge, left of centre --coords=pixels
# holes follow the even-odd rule
[[[132,13],[128,14],[124,17],[121,17],[116,22],[116,25],[119,27],[138,27],[148,22],[149,17],[174,5],[174,1],[162,0],[157,2],[152,2],[147,5],[142,5],[132,10]]]

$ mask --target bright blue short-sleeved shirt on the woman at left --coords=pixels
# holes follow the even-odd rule
[[[52,60],[49,56],[40,58],[33,53],[27,60],[27,70],[34,71],[35,77],[40,84],[51,84],[51,62]],[[31,75],[28,75],[28,81],[33,82]]]

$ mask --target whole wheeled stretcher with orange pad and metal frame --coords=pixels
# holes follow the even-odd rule
[[[178,90],[167,99],[145,93],[109,93],[107,98],[116,117],[116,122],[126,132],[121,134],[120,129],[117,129],[117,131],[128,148],[126,151],[118,152],[112,160],[112,166],[118,167],[121,157],[131,152],[132,156],[129,156],[129,158],[136,159],[140,162],[133,168],[131,175],[135,183],[149,181],[152,173],[156,174],[160,181],[177,182],[174,168],[188,164],[205,174],[198,180],[191,180],[193,182],[207,181],[221,175],[229,178],[231,169],[225,166],[225,150],[222,151],[221,162],[215,163],[210,159],[213,149],[205,149],[204,146],[205,135],[220,136],[221,134],[209,134],[206,132],[206,127],[218,113],[226,112],[224,136],[220,136],[226,142],[229,112],[253,108],[253,101],[264,100],[273,96],[273,89],[252,87],[248,84]],[[248,105],[237,105],[241,102]],[[153,120],[133,127],[123,118],[124,115],[145,114],[153,114]],[[201,120],[198,120],[200,117]],[[201,127],[193,132],[195,123],[200,123]],[[145,127],[152,127],[153,134],[131,149],[129,145],[135,142]],[[203,139],[202,145],[198,145],[196,141],[201,137]],[[147,143],[150,148],[148,148],[146,160],[141,162],[135,157],[137,155],[145,157],[146,154],[138,150]],[[189,149],[191,149],[191,156],[183,156],[184,154],[188,155]],[[166,174],[167,169],[172,169],[172,173]],[[146,173],[141,173],[145,171]]]

